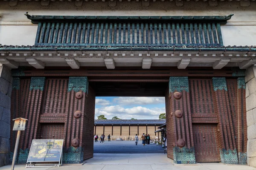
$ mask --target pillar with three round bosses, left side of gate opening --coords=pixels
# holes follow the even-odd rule
[[[64,126],[64,163],[93,157],[95,93],[87,77],[70,77]]]

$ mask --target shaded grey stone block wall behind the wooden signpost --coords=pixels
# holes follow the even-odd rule
[[[12,74],[0,65],[0,167],[9,164]]]

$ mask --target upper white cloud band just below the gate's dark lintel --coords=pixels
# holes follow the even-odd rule
[[[164,97],[118,97],[113,102],[119,105],[148,105],[165,103]]]

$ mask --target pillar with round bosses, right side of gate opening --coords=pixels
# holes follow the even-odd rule
[[[188,77],[170,77],[166,91],[167,156],[177,164],[195,164]]]

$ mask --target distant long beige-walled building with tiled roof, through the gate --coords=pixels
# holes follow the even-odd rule
[[[105,134],[105,136],[110,134],[112,140],[116,138],[134,140],[136,134],[140,137],[145,133],[150,134],[151,139],[156,139],[159,134],[154,131],[165,122],[166,120],[95,120],[94,134],[99,136],[101,134]]]

